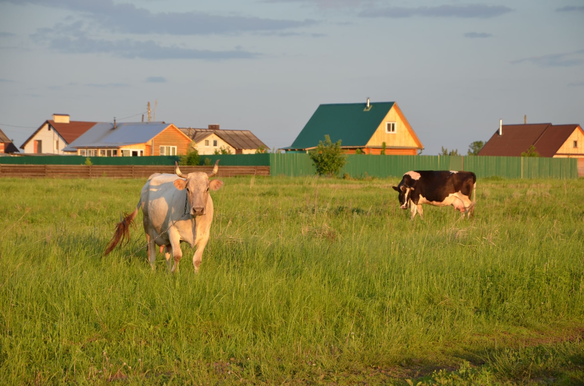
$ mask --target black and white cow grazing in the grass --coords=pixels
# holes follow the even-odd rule
[[[472,171],[418,170],[404,174],[397,187],[400,208],[412,211],[412,220],[416,212],[424,217],[423,203],[434,206],[452,205],[468,217],[474,212],[474,199],[477,188],[477,176]],[[471,194],[472,196],[471,201]]]

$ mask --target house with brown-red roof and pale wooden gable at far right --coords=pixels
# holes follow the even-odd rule
[[[542,157],[584,157],[584,131],[578,124],[499,125],[479,156],[520,157],[533,145]]]

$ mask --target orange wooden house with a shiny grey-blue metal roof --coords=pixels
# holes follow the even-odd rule
[[[80,156],[184,155],[191,139],[164,122],[98,123],[79,136],[65,151]]]

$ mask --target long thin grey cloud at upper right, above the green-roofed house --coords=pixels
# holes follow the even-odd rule
[[[419,6],[416,8],[406,7],[385,7],[363,10],[359,13],[361,17],[479,17],[488,19],[505,15],[512,12],[513,9],[504,5],[438,5],[438,6]]]

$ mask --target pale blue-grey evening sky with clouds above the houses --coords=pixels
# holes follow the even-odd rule
[[[51,114],[251,130],[291,145],[319,104],[396,101],[466,153],[503,124],[584,125],[582,0],[0,0],[0,129]]]

